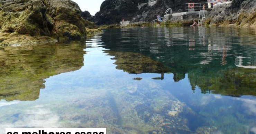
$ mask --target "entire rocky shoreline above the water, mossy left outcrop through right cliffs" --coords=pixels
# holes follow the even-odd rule
[[[88,11],[82,12],[78,4],[72,0],[1,0],[0,45],[80,40],[86,35],[102,32],[100,29],[149,27],[152,26],[152,19],[155,18],[156,13],[163,16],[165,9],[170,7],[173,8],[173,12],[184,13],[182,6],[179,5],[188,2],[163,0],[157,1],[154,6],[149,6],[144,0],[134,2],[105,0],[100,11],[95,16],[91,16]],[[108,7],[113,3],[116,3],[115,6]],[[161,3],[165,6],[161,6]],[[170,17],[167,27],[189,26],[193,19],[198,18],[198,14],[181,13],[181,16],[177,14],[179,13]],[[121,18],[130,19],[131,24],[120,27]],[[256,0],[233,0],[229,3],[216,4],[204,22],[207,26],[255,28]],[[100,29],[97,29],[94,23],[101,25]]]

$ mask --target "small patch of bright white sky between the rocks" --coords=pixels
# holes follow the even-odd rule
[[[95,15],[98,11],[100,11],[100,5],[104,0],[72,0],[76,2],[81,11],[89,11],[92,16]]]

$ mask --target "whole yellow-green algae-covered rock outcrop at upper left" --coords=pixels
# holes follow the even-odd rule
[[[79,6],[71,0],[2,0],[0,17],[0,32],[6,37],[1,38],[1,44],[56,41],[47,37],[80,40],[86,35],[85,27],[91,27],[90,22],[85,24]],[[12,33],[22,35],[29,43],[20,42],[21,39],[14,38]],[[38,41],[40,39],[43,41]]]

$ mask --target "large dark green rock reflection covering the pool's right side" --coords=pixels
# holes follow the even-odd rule
[[[164,73],[172,72],[175,82],[188,74],[193,92],[197,86],[202,93],[256,95],[254,29],[198,27],[115,32],[115,36],[106,35],[102,40],[108,44],[104,47],[110,49],[110,55],[115,56],[117,69],[161,74],[154,80],[163,80]]]

